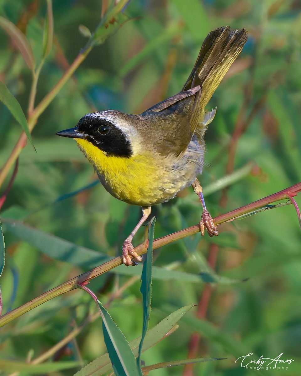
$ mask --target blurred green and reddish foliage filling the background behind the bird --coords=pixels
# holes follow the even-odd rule
[[[79,25],[95,30],[106,6],[97,0],[53,2],[53,47],[41,69],[35,105],[87,43],[82,33],[88,31],[81,27],[80,33]],[[26,35],[37,62],[46,10],[44,1],[0,1],[0,15]],[[249,39],[210,102],[217,114],[206,134],[201,176],[208,209],[213,216],[225,213],[301,181],[300,2],[132,0],[125,14],[132,20],[90,52],[38,118],[32,132],[36,152],[27,143],[20,154],[1,212],[3,313],[101,264],[106,256],[119,255],[140,216],[140,208],[112,198],[94,183],[93,168],[76,143],[55,132],[75,126],[88,112],[139,113],[175,94],[205,36],[216,27],[245,27]],[[32,74],[3,29],[0,41],[0,80],[27,114]],[[21,127],[2,104],[0,118],[4,165]],[[154,213],[158,238],[198,223],[201,205],[189,188]],[[150,365],[195,356],[227,358],[195,364],[193,370],[163,368],[153,372],[158,376],[299,374],[301,257],[293,206],[226,223],[219,230],[214,239],[197,234],[154,251],[150,327],[178,308],[199,306],[141,359]],[[137,244],[142,239],[143,231]],[[140,266],[119,267],[89,285],[128,341],[141,335],[143,323],[140,278],[134,274],[141,274]],[[78,362],[52,374],[72,375],[106,352],[101,318],[84,291],[50,300],[1,330],[1,359],[25,362],[46,354],[46,361]],[[76,337],[54,348],[75,330]],[[283,359],[294,361],[288,370],[245,370],[235,360],[250,352],[268,358],[284,353]]]

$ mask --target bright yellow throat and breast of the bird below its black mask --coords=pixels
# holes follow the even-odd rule
[[[85,139],[76,139],[79,148],[99,174],[106,190],[119,200],[134,205],[149,206],[173,197],[166,195],[163,185],[164,168],[149,153],[123,158],[107,156]],[[167,197],[169,196],[169,197]]]

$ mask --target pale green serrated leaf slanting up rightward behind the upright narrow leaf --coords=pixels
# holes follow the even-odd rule
[[[142,352],[146,351],[150,347],[154,346],[156,343],[163,340],[167,337],[173,328],[176,327],[176,323],[183,317],[183,315],[192,308],[193,305],[185,306],[176,311],[172,312],[170,315],[165,317],[160,323],[152,327],[146,332],[146,336],[143,341]],[[141,337],[136,338],[135,340],[129,343],[131,346],[132,352],[135,356],[138,355],[138,346],[141,342]],[[111,362],[109,359],[109,354],[106,353],[99,358],[95,359],[93,362],[87,364],[84,368],[78,371],[76,376],[85,376],[93,375],[97,376],[102,374],[108,374],[112,369]],[[74,375],[74,376],[75,376]]]

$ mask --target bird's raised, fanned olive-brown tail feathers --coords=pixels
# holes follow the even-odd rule
[[[204,40],[195,66],[182,89],[186,91],[201,85],[201,112],[204,112],[215,89],[243,49],[247,39],[245,29],[231,30],[229,26],[225,26],[211,31]]]

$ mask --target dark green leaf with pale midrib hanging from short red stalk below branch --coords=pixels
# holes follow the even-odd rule
[[[99,301],[98,306],[102,316],[103,337],[115,374],[118,376],[142,376],[141,368],[138,367],[136,358],[122,331]]]

